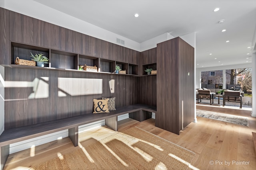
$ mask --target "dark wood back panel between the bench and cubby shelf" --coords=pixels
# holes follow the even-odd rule
[[[5,129],[74,115],[92,114],[93,99],[101,97],[116,97],[116,107],[137,103],[138,87],[134,86],[138,84],[137,77],[8,67],[5,67],[5,74],[6,81],[12,82],[10,87],[5,88]],[[100,79],[102,94],[72,96],[60,88],[60,78],[67,78],[67,81],[74,81],[74,78]],[[113,94],[109,85],[109,80],[112,79],[115,80]],[[22,86],[22,82],[31,86]],[[42,84],[46,85],[46,88],[39,93],[44,97],[40,97],[40,94],[33,97],[36,87]],[[71,86],[67,88],[74,90]]]

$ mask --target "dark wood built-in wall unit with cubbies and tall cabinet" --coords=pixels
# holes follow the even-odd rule
[[[183,127],[191,122],[194,52],[182,39],[138,52],[3,8],[0,21],[0,64],[4,81],[10,82],[3,88],[5,129],[92,113],[93,99],[101,97],[116,97],[116,107],[157,105],[156,125],[174,133],[181,130],[181,120]],[[14,64],[16,57],[30,60],[30,52],[43,53],[49,64]],[[96,65],[100,72],[78,70],[84,64]],[[114,74],[116,65],[126,74]],[[157,75],[147,75],[146,68]],[[80,79],[96,80],[102,87],[83,95],[63,90],[61,82]],[[46,90],[36,97],[32,84],[38,82]]]

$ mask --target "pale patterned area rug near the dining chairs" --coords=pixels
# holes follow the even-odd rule
[[[244,116],[236,116],[236,115],[230,115],[230,114],[218,113],[214,111],[206,111],[206,110],[200,110],[200,109],[196,109],[196,116],[224,121],[228,123],[234,123],[237,125],[249,126],[249,119],[248,117],[244,117]]]

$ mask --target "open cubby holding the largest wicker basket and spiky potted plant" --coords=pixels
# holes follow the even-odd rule
[[[49,49],[43,47],[36,47],[32,45],[11,43],[11,64],[15,64],[16,57],[19,59],[31,61],[31,54],[44,54],[49,59]],[[44,64],[45,67],[49,67],[49,64]]]

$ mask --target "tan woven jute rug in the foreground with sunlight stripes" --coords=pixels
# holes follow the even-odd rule
[[[34,170],[186,170],[195,153],[137,127],[116,133]]]

